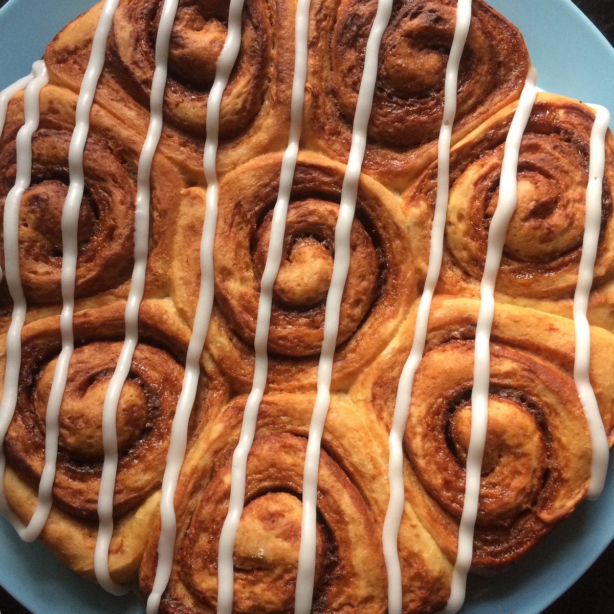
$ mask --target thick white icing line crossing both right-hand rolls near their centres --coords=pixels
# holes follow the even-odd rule
[[[458,552],[452,575],[452,588],[448,604],[443,610],[454,614],[461,609],[465,600],[467,573],[473,556],[473,531],[478,513],[480,496],[480,474],[482,457],[486,445],[488,425],[488,397],[490,386],[490,341],[492,320],[494,318],[494,287],[503,254],[503,245],[511,216],[518,203],[516,175],[518,157],[524,130],[529,122],[530,113],[537,96],[534,68],[529,69],[523,92],[511,121],[510,131],[505,139],[505,150],[501,166],[499,203],[492,216],[488,230],[486,262],[480,284],[480,312],[475,328],[475,353],[473,363],[473,390],[471,395],[471,430],[467,465],[465,471],[465,499],[459,526]]]

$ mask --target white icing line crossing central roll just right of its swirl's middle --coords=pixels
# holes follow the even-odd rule
[[[378,55],[384,30],[392,13],[392,0],[378,0],[375,21],[367,39],[365,64],[352,126],[352,144],[348,166],[343,177],[339,216],[335,227],[335,261],[326,297],[324,311],[324,340],[317,367],[317,392],[314,403],[303,473],[303,517],[301,519],[301,545],[298,551],[297,591],[295,614],[309,614],[313,601],[313,585],[316,568],[316,508],[317,472],[320,464],[320,447],[324,422],[330,403],[330,382],[337,333],[341,298],[348,278],[350,244],[349,236],[356,211],[360,169],[367,145],[367,125],[373,106],[373,93],[378,76]]]

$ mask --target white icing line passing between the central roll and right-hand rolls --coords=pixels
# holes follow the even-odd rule
[[[438,140],[437,153],[437,197],[435,214],[430,236],[429,268],[427,270],[424,291],[416,314],[416,328],[411,344],[411,352],[401,373],[397,398],[392,418],[392,429],[389,436],[388,478],[390,484],[390,499],[384,520],[382,540],[384,560],[388,574],[388,611],[389,614],[401,614],[403,608],[403,590],[401,567],[398,560],[398,530],[405,505],[405,487],[403,485],[403,433],[410,409],[411,391],[414,376],[422,360],[426,333],[429,324],[429,312],[441,270],[443,255],[443,235],[446,225],[449,195],[449,158],[450,142],[454,118],[456,117],[458,72],[462,52],[467,41],[467,33],[471,23],[471,0],[459,0],[456,12],[454,39],[446,66],[444,85],[443,117]]]

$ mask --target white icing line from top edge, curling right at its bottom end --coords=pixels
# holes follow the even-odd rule
[[[130,373],[134,349],[139,339],[139,308],[145,289],[147,252],[149,249],[150,176],[153,155],[162,131],[162,105],[168,72],[168,48],[177,0],[165,0],[155,44],[155,70],[149,101],[150,119],[147,136],[141,149],[137,173],[136,206],[134,208],[134,268],[124,314],[125,338],[115,371],[109,382],[103,405],[104,465],[98,495],[99,529],[94,568],[96,579],[110,593],[125,592],[109,575],[109,545],[113,534],[113,494],[117,475],[117,404],[123,384]]]

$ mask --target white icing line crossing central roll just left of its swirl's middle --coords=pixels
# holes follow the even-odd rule
[[[279,192],[273,209],[271,233],[266,255],[265,270],[260,281],[260,298],[258,299],[258,317],[254,338],[255,365],[252,389],[247,397],[239,443],[232,459],[230,480],[230,504],[222,526],[217,559],[218,570],[218,614],[230,614],[234,594],[233,551],[236,532],[243,512],[245,499],[247,455],[254,442],[258,409],[266,387],[268,370],[269,325],[271,322],[271,305],[273,303],[273,286],[281,264],[286,230],[286,217],[294,170],[297,165],[298,145],[303,119],[303,102],[305,100],[305,83],[307,79],[307,34],[309,27],[310,0],[298,0],[295,18],[295,56],[292,80],[292,102],[290,104],[290,134],[288,146],[284,152],[279,177]]]

